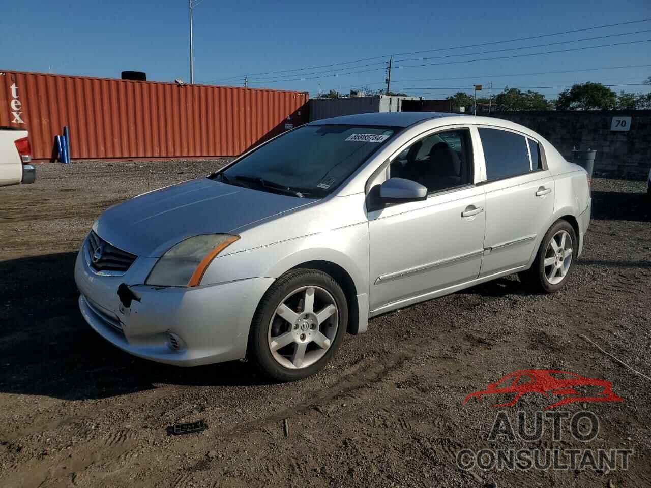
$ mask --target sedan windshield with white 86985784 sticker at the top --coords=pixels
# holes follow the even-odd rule
[[[262,191],[321,198],[395,133],[396,128],[378,126],[303,126],[261,146],[213,178]]]

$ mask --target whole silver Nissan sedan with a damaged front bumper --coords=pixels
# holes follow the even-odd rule
[[[320,120],[102,213],[77,256],[79,308],[133,355],[247,357],[295,380],[383,312],[512,273],[559,290],[590,204],[585,170],[512,122]]]

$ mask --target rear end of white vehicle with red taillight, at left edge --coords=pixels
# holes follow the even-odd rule
[[[27,131],[0,126],[0,186],[34,183],[36,168],[29,164],[31,159]]]

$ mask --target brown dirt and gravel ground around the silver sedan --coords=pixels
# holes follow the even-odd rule
[[[651,485],[651,201],[644,183],[596,179],[584,254],[564,290],[507,277],[370,321],[325,370],[264,381],[247,362],[174,368],[135,359],[77,310],[72,270],[92,221],[143,191],[223,161],[38,167],[0,188],[1,487],[646,487]],[[550,398],[512,407],[467,394],[520,369],[611,381],[619,402],[570,403],[600,421],[579,442],[488,440]],[[530,417],[531,418],[531,417]],[[167,436],[205,420],[199,434]],[[284,432],[287,420],[288,437]],[[632,449],[628,470],[462,470],[479,448]]]

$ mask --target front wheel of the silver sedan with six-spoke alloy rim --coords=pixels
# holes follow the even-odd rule
[[[247,356],[270,379],[296,381],[326,366],[347,327],[348,303],[339,283],[323,271],[294,269],[260,300]]]

